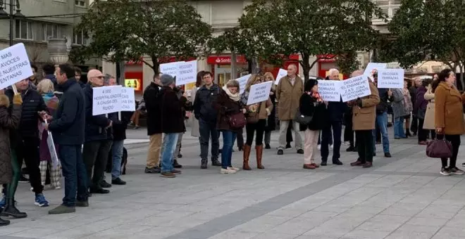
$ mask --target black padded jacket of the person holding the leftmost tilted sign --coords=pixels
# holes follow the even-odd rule
[[[6,96],[13,102],[13,89],[7,89],[5,92]],[[11,104],[13,105],[13,104]],[[18,136],[27,138],[38,138],[39,127],[38,122],[41,120],[39,117],[39,111],[49,112],[45,105],[44,98],[35,89],[27,89],[23,94],[23,105],[22,113],[20,118],[20,125],[16,131]]]

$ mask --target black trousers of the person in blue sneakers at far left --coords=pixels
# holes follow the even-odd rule
[[[23,160],[26,163],[27,171],[29,173],[29,181],[34,193],[42,193],[44,186],[42,186],[39,169],[39,138],[18,138],[15,149],[20,167],[22,166],[21,164],[23,164]]]

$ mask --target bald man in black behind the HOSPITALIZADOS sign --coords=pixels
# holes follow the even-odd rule
[[[112,140],[108,139],[108,130],[113,122],[105,115],[92,115],[94,88],[104,86],[104,75],[99,70],[89,70],[89,82],[83,89],[85,93],[85,143],[82,157],[87,170],[89,193],[110,193],[102,187],[106,162],[109,158]],[[109,183],[104,186],[109,187]],[[110,185],[111,186],[111,185]]]

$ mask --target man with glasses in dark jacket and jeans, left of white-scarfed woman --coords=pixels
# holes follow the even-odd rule
[[[194,100],[194,116],[199,120],[200,129],[200,156],[202,157],[202,169],[206,169],[209,157],[209,141],[211,136],[211,164],[221,166],[218,161],[220,143],[218,141],[218,131],[216,131],[216,117],[218,111],[213,108],[220,87],[213,83],[213,74],[205,72],[204,85],[197,91]]]

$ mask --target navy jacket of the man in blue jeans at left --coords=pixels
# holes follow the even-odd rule
[[[63,96],[49,124],[49,131],[54,136],[54,142],[77,146],[84,143],[85,131],[85,96],[82,88],[74,78],[61,85]]]

